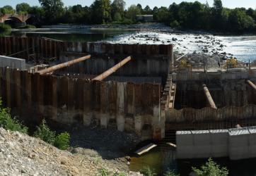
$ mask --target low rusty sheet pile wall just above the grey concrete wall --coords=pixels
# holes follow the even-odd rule
[[[224,108],[182,108],[165,110],[168,130],[211,130],[256,125],[256,105]]]

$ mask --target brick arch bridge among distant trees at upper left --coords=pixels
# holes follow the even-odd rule
[[[26,23],[26,21],[32,17],[34,17],[34,15],[6,14],[0,16],[0,23],[5,23],[7,20],[13,20],[15,23]]]

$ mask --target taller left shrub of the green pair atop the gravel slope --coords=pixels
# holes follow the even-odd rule
[[[44,142],[53,145],[55,141],[55,133],[56,132],[50,130],[45,120],[42,120],[42,124],[37,127],[34,136],[42,139]]]

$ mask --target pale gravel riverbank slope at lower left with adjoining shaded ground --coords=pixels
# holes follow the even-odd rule
[[[71,132],[71,147],[62,151],[27,134],[0,128],[0,175],[129,173],[123,150],[132,146],[133,139],[121,132],[83,127]]]

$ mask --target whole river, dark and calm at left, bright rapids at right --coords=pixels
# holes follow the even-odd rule
[[[124,29],[39,29],[19,30],[6,35],[49,37],[71,42],[113,42],[125,44],[175,44],[180,54],[194,51],[205,54],[227,54],[240,61],[256,60],[256,36],[216,36],[170,32],[139,32]]]

